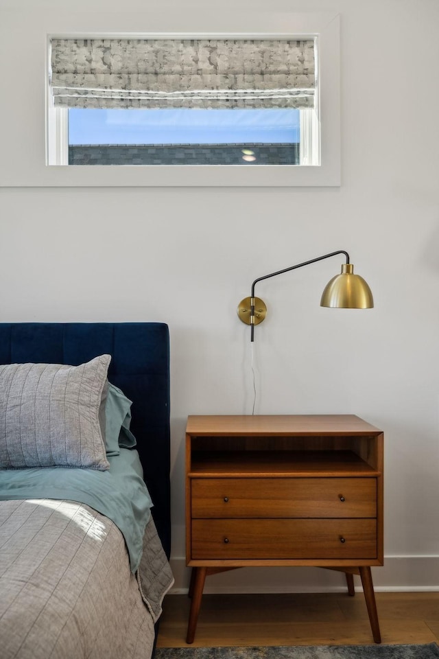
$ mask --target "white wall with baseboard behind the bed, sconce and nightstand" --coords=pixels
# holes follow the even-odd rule
[[[0,0],[0,10],[38,5],[41,14],[63,4]],[[222,12],[234,7],[222,2]],[[237,303],[259,275],[346,249],[372,287],[374,310],[319,307],[337,259],[259,285],[270,316],[256,330],[256,411],[355,413],[382,428],[387,558],[375,583],[439,588],[439,5],[239,3],[255,8],[341,14],[342,186],[1,188],[0,319],[169,324],[173,566],[184,588],[186,417],[251,411],[248,327]],[[195,16],[197,3],[185,10]],[[13,90],[0,113],[10,102]],[[206,590],[218,591],[342,586],[340,575],[301,568],[209,579]]]

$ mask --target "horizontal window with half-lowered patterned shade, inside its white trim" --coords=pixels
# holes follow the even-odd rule
[[[319,165],[315,41],[55,39],[50,163]]]

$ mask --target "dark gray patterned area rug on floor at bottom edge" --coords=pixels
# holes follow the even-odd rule
[[[158,647],[154,659],[438,659],[439,645]]]

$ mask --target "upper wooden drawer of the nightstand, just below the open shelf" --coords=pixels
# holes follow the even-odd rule
[[[375,518],[376,478],[193,478],[193,518]]]

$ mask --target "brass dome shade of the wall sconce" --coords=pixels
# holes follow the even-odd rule
[[[325,286],[320,306],[337,309],[371,309],[372,291],[363,277],[354,275],[353,264],[344,263],[342,273],[333,277]]]

